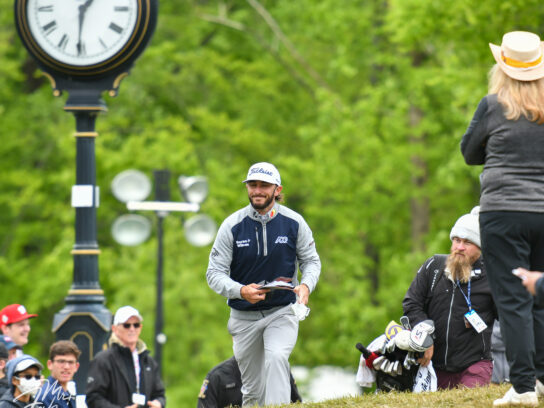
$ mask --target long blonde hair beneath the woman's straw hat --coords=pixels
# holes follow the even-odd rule
[[[544,123],[544,78],[518,81],[495,64],[489,71],[489,93],[497,94],[506,119],[518,120],[525,116],[532,122]]]

